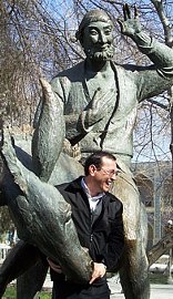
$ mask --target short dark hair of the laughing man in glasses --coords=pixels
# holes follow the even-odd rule
[[[84,163],[84,174],[89,175],[90,165],[94,165],[98,169],[101,168],[103,157],[110,158],[112,161],[116,161],[116,158],[111,153],[103,152],[103,151],[95,152],[94,154],[90,155],[86,158]]]

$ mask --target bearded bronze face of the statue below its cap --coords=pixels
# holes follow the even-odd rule
[[[109,21],[91,22],[83,30],[82,47],[91,60],[111,60],[113,56],[112,41],[112,23]]]

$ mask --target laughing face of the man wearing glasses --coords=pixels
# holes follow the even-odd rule
[[[99,169],[94,165],[90,166],[90,175],[94,183],[95,194],[109,192],[112,182],[116,179],[116,162],[102,157],[102,165]]]

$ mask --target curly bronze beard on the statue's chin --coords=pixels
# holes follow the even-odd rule
[[[85,50],[85,54],[88,58],[94,61],[108,61],[113,58],[114,49],[113,45],[110,45],[105,50],[98,51],[95,49],[88,49]]]

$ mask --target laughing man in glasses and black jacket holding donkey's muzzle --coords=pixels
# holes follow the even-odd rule
[[[93,272],[88,285],[65,280],[59,266],[48,259],[53,280],[53,299],[110,298],[106,268],[116,269],[123,252],[122,204],[109,193],[116,179],[116,161],[112,154],[98,152],[88,157],[84,174],[71,183],[57,186],[71,205],[80,243],[89,249]]]

